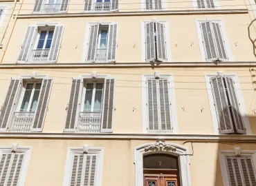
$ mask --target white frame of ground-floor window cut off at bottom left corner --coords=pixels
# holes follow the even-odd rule
[[[17,185],[24,186],[26,174],[28,171],[28,163],[30,161],[30,154],[31,154],[32,147],[17,147],[16,153],[24,153],[24,162],[21,166],[21,172],[19,176],[19,180],[17,181]],[[3,152],[11,153],[12,147],[0,147],[0,154]]]

